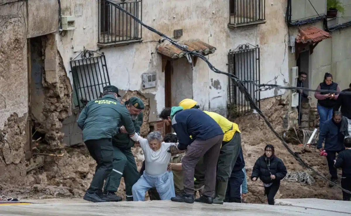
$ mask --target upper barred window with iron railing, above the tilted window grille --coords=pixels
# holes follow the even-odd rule
[[[143,15],[142,0],[128,2],[126,0],[100,0],[99,5],[99,45],[128,44],[141,41],[142,26],[117,6],[141,20]]]

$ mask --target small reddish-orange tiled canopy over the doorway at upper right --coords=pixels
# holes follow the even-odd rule
[[[303,44],[316,43],[327,38],[331,38],[328,32],[325,32],[320,28],[311,26],[303,29],[299,28],[299,33],[297,34],[296,42]]]

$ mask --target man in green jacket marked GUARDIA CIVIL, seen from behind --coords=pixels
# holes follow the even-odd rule
[[[95,175],[84,199],[91,202],[110,201],[102,194],[104,180],[112,170],[112,137],[118,133],[118,127],[124,125],[132,140],[137,142],[140,136],[125,106],[117,100],[120,95],[113,85],[105,86],[103,97],[91,100],[79,114],[77,124],[83,131],[83,141],[90,155],[97,162]]]

